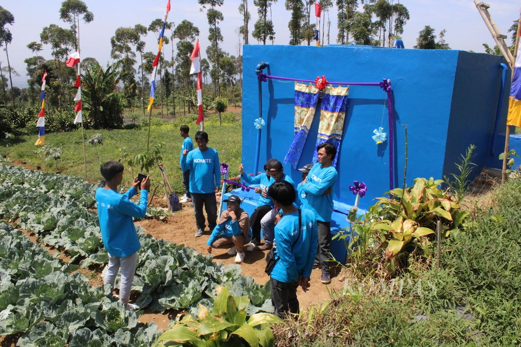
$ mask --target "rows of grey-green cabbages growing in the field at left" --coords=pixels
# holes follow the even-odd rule
[[[0,163],[0,219],[70,256],[64,263],[10,224],[0,224],[0,335],[23,333],[18,343],[27,346],[147,346],[157,338],[155,324],[138,324],[141,311],[126,312],[107,297],[110,288],[94,288],[75,272],[78,267],[99,272],[108,261],[95,189],[78,177]],[[268,284],[242,276],[240,266],[214,263],[211,256],[145,235],[140,227],[138,234],[132,289],[140,309],[192,311],[198,304],[211,309],[217,286],[228,284],[232,295],[249,296],[249,315],[272,311]]]

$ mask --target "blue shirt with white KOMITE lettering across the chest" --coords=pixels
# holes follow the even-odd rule
[[[181,169],[190,170],[191,193],[213,193],[220,185],[219,153],[214,148],[207,147],[205,151],[195,148],[188,152],[188,155],[181,157]]]

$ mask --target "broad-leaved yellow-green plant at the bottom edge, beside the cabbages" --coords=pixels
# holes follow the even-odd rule
[[[156,346],[272,346],[270,326],[282,320],[270,313],[256,313],[246,320],[247,296],[230,295],[228,286],[217,288],[212,312],[199,305],[199,315],[185,315],[165,331]]]

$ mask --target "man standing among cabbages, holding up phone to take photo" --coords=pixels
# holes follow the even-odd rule
[[[105,186],[96,190],[96,203],[103,245],[108,252],[107,273],[103,282],[114,290],[121,267],[119,300],[126,310],[135,310],[136,307],[129,304],[129,298],[141,245],[132,217],[145,216],[150,180],[146,176],[141,182],[139,204],[135,204],[130,198],[138,193],[140,182],[137,177],[125,194],[118,192],[118,185],[123,179],[123,164],[108,161],[101,165],[101,174],[105,178]]]

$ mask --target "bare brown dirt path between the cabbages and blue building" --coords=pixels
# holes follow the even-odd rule
[[[210,235],[208,229],[201,237],[194,237],[195,232],[195,218],[193,214],[192,204],[184,204],[183,209],[167,217],[164,221],[158,220],[143,220],[135,224],[141,225],[146,229],[148,234],[155,238],[163,238],[178,245],[191,247],[198,252],[207,254],[206,241]],[[234,264],[235,256],[228,255],[226,249],[213,249],[214,261],[223,264]],[[267,251],[246,252],[246,259],[241,264],[242,274],[251,276],[259,284],[265,284],[269,280],[269,276],[264,272],[266,262],[264,261]],[[344,272],[332,278],[330,285],[322,285],[320,283],[320,269],[314,269],[312,273],[311,287],[309,291],[303,292],[300,288],[297,291],[301,310],[307,310],[309,305],[316,305],[322,301],[329,300],[330,294],[328,292],[335,290],[341,291],[343,289],[342,279],[345,278]]]

